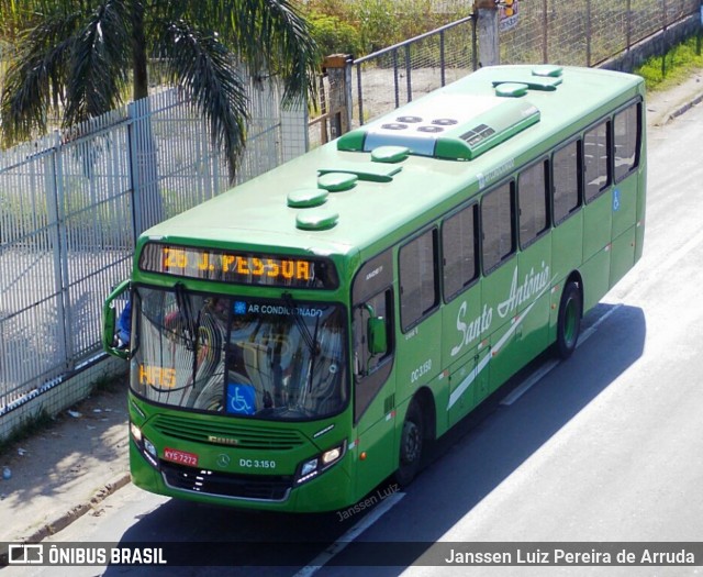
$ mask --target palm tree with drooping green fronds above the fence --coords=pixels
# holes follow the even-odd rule
[[[248,102],[242,67],[282,79],[283,103],[314,91],[319,54],[294,0],[31,0],[3,4],[24,24],[0,96],[5,144],[64,127],[148,95],[147,59],[159,58],[208,122],[234,180]],[[8,12],[0,11],[3,15]],[[129,93],[129,90],[126,90]]]

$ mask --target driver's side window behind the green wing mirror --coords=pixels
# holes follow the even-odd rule
[[[393,353],[392,302],[392,291],[387,289],[354,309],[354,373],[357,378],[375,373]],[[373,333],[373,324],[378,325],[380,322],[386,326],[386,348],[382,352],[373,352],[378,343],[369,340]],[[378,334],[378,329],[376,331]]]

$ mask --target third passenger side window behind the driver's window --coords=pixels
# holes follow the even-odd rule
[[[489,274],[515,252],[514,188],[511,180],[481,201],[483,274]]]

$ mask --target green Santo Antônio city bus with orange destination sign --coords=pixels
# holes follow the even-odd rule
[[[103,311],[134,484],[306,512],[410,482],[639,259],[644,96],[486,67],[142,234]]]

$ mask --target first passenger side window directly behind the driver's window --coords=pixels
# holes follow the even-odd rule
[[[439,303],[437,230],[431,229],[400,248],[400,320],[403,331]]]

